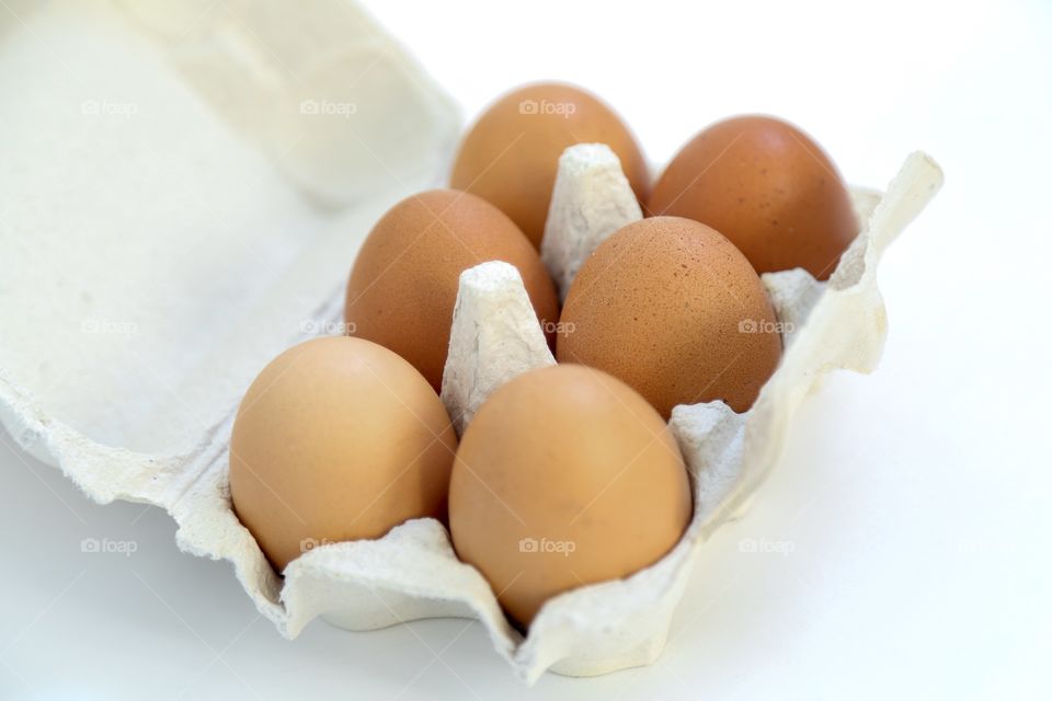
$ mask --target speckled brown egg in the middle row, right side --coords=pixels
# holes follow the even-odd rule
[[[665,418],[676,404],[752,406],[781,356],[767,294],[714,229],[653,217],[616,231],[570,287],[556,356],[606,370]]]

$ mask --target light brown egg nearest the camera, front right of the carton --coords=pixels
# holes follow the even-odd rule
[[[465,432],[449,484],[457,554],[528,625],[549,598],[660,560],[690,520],[679,447],[616,378],[579,365],[521,375]]]

